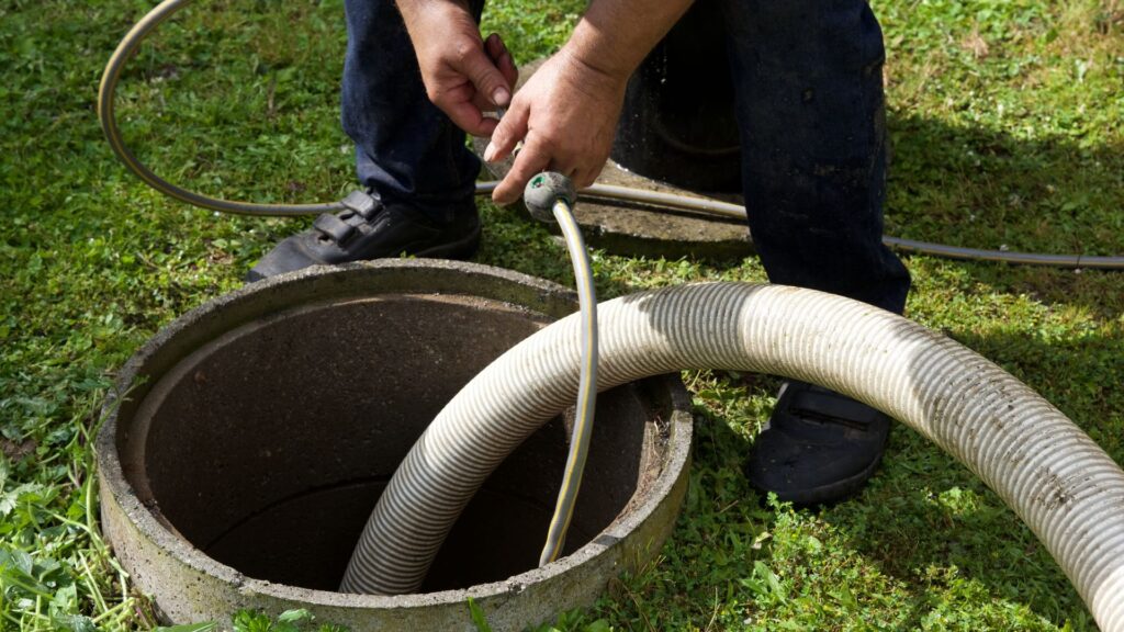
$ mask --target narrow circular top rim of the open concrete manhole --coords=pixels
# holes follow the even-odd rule
[[[125,478],[116,448],[118,435],[118,413],[120,409],[119,405],[128,398],[126,395],[123,395],[123,392],[128,389],[137,378],[142,377],[140,370],[145,365],[146,361],[156,355],[157,351],[166,352],[165,347],[170,343],[176,342],[179,336],[188,331],[189,327],[196,327],[198,322],[214,317],[214,315],[219,310],[224,312],[224,317],[227,319],[227,326],[229,328],[237,326],[236,323],[229,323],[229,313],[235,312],[242,316],[250,315],[254,310],[245,309],[246,305],[250,303],[251,298],[255,301],[261,301],[261,295],[263,291],[268,292],[270,289],[289,289],[291,287],[307,286],[311,289],[311,294],[309,296],[315,297],[315,300],[325,300],[328,298],[338,298],[348,295],[353,296],[356,288],[353,286],[345,286],[343,283],[345,278],[364,274],[372,276],[378,274],[379,271],[388,270],[393,270],[396,273],[405,272],[410,278],[426,278],[427,281],[446,278],[447,282],[436,283],[436,289],[434,287],[427,287],[419,290],[415,286],[414,292],[416,294],[444,294],[446,291],[464,294],[468,288],[465,287],[466,283],[463,281],[463,277],[468,276],[470,279],[475,278],[487,280],[490,283],[498,282],[499,288],[497,291],[479,295],[484,298],[507,300],[504,296],[504,291],[506,290],[510,292],[517,290],[522,294],[536,294],[542,304],[542,310],[554,317],[561,317],[575,309],[573,292],[556,283],[492,267],[439,260],[380,260],[341,267],[316,267],[246,286],[232,294],[212,299],[176,318],[173,323],[165,326],[158,334],[145,343],[142,349],[138,350],[125,364],[117,379],[115,392],[107,399],[103,407],[103,410],[108,414],[108,418],[97,439],[98,468],[102,480],[106,481],[106,485],[109,487],[108,490],[103,489],[102,493],[111,493],[114,499],[116,499],[125,513],[130,516],[135,527],[138,529],[145,538],[160,545],[173,559],[200,574],[214,576],[217,579],[237,586],[239,590],[250,590],[260,595],[275,597],[283,601],[299,601],[309,605],[360,610],[402,610],[433,607],[435,605],[461,605],[468,597],[482,599],[492,596],[508,595],[513,592],[522,590],[522,587],[524,586],[560,576],[571,568],[584,565],[590,560],[604,556],[620,540],[626,538],[629,533],[635,531],[637,526],[651,517],[665,502],[672,493],[672,489],[680,482],[682,477],[686,476],[690,458],[692,419],[690,413],[687,412],[690,409],[690,399],[682,390],[681,385],[679,385],[678,389],[669,388],[673,400],[673,412],[671,414],[671,418],[665,421],[668,424],[667,433],[669,436],[665,467],[652,482],[650,488],[651,491],[647,494],[647,497],[643,503],[623,512],[622,516],[618,516],[618,518],[606,527],[605,531],[595,536],[591,542],[581,547],[574,553],[547,565],[546,567],[532,569],[502,581],[480,584],[465,589],[442,590],[416,595],[353,595],[299,588],[247,578],[234,568],[221,565],[209,558],[161,524],[154,515],[143,506],[132,485]],[[452,277],[450,272],[453,271],[461,274],[461,280],[450,279]],[[406,290],[408,286],[408,282],[404,283],[402,289]],[[351,291],[347,291],[348,289]],[[481,289],[482,288],[472,288],[472,291],[480,291]],[[333,296],[333,290],[338,294]],[[257,313],[260,313],[260,310]],[[190,341],[188,341],[187,344],[190,345]],[[669,382],[669,386],[673,386],[672,382],[678,383],[677,379],[663,379]],[[151,387],[151,383],[148,386]],[[144,386],[136,389],[135,392],[139,394],[136,399],[143,399],[145,391],[146,389]]]

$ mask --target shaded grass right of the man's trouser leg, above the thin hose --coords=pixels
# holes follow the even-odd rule
[[[1124,152],[891,112],[888,232],[953,245],[1124,255]]]

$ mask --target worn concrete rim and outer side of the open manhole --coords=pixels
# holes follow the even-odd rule
[[[466,273],[468,279],[488,280],[490,283],[500,281],[500,288],[493,291],[482,291],[488,288],[466,287],[464,278],[448,282],[447,272],[457,271]],[[672,394],[671,418],[668,449],[669,454],[664,460],[665,467],[651,486],[647,499],[633,511],[618,517],[593,541],[586,544],[573,554],[541,569],[533,569],[524,574],[511,577],[505,581],[481,584],[462,590],[445,590],[422,595],[402,596],[374,596],[374,595],[345,595],[324,590],[311,590],[291,586],[283,586],[250,579],[242,576],[235,569],[220,565],[201,551],[194,549],[185,541],[166,530],[156,521],[152,512],[143,505],[134,494],[132,487],[125,479],[120,469],[120,462],[116,459],[117,441],[117,418],[123,401],[143,398],[143,387],[138,390],[129,391],[140,377],[140,369],[157,354],[166,355],[169,350],[163,347],[167,343],[182,342],[178,336],[189,327],[196,327],[199,322],[216,318],[216,315],[226,310],[223,315],[225,326],[230,328],[237,326],[236,323],[248,322],[262,315],[262,309],[247,308],[245,304],[251,300],[260,300],[263,289],[301,288],[299,294],[303,300],[284,300],[283,296],[278,298],[277,307],[281,308],[287,303],[296,305],[307,303],[306,290],[312,291],[318,301],[328,299],[343,299],[356,296],[370,296],[359,292],[356,289],[364,285],[345,285],[347,276],[360,276],[364,280],[370,280],[369,274],[378,276],[380,272],[395,272],[404,274],[405,278],[397,279],[397,282],[379,283],[379,294],[387,291],[414,294],[465,294],[469,291],[480,292],[477,296],[493,298],[496,300],[508,300],[510,292],[519,295],[537,295],[536,300],[542,305],[543,313],[553,317],[561,317],[573,310],[573,295],[565,288],[519,274],[507,270],[459,262],[444,262],[437,260],[383,260],[365,262],[362,264],[350,264],[338,268],[308,269],[292,274],[269,279],[255,283],[253,288],[243,288],[218,297],[178,318],[171,325],[162,329],[154,336],[123,369],[118,379],[116,394],[106,404],[108,413],[107,423],[99,433],[97,440],[99,481],[102,490],[112,490],[114,494],[102,493],[102,522],[105,534],[115,547],[115,552],[126,562],[126,568],[135,574],[134,580],[146,593],[155,590],[167,592],[167,577],[149,577],[145,574],[137,574],[133,568],[139,558],[156,560],[154,563],[169,565],[182,570],[178,575],[175,586],[176,592],[196,594],[200,603],[210,602],[211,607],[207,612],[199,611],[198,619],[211,619],[228,616],[236,610],[244,607],[262,608],[269,612],[280,612],[291,607],[311,607],[317,612],[323,621],[342,623],[355,629],[368,629],[371,621],[371,612],[378,611],[381,619],[380,625],[395,625],[395,621],[401,624],[407,623],[402,619],[407,613],[420,608],[429,608],[432,614],[439,615],[437,619],[444,620],[442,624],[454,624],[454,622],[466,621],[465,601],[474,598],[484,612],[488,613],[492,624],[499,629],[508,629],[509,614],[505,611],[505,603],[510,596],[524,590],[542,592],[536,599],[542,605],[542,620],[549,620],[560,610],[589,605],[605,589],[608,577],[605,569],[611,569],[615,576],[626,568],[637,569],[652,556],[655,549],[670,534],[682,497],[686,493],[686,481],[688,473],[688,461],[691,440],[691,417],[686,410],[690,408],[690,398],[682,388],[681,382],[676,378],[664,378],[670,386]],[[433,287],[427,287],[423,291],[417,290],[416,281],[426,278],[428,281],[438,280]],[[445,280],[445,282],[441,282]],[[380,280],[381,281],[381,280]],[[327,285],[325,285],[327,283]],[[307,286],[307,287],[306,287]],[[495,286],[490,286],[495,288]],[[280,292],[283,295],[284,292]],[[499,295],[499,296],[496,296]],[[524,296],[524,299],[531,298]],[[241,309],[239,309],[241,308]],[[234,310],[232,316],[229,310]],[[233,319],[233,322],[232,322]],[[188,332],[190,333],[190,332]],[[188,336],[189,338],[191,336]],[[191,346],[191,342],[175,346]],[[173,353],[173,355],[182,355]],[[169,360],[174,363],[175,359]],[[164,368],[166,370],[166,368]],[[151,386],[151,385],[149,385]],[[128,392],[128,397],[121,394]],[[646,520],[652,522],[643,530],[636,527]],[[628,536],[629,531],[632,535]],[[130,538],[132,535],[133,538]],[[574,572],[574,570],[579,572]],[[147,570],[147,569],[146,569]],[[568,574],[562,577],[562,574]],[[600,579],[598,579],[600,578]],[[156,585],[155,583],[161,583]],[[584,589],[579,594],[574,593],[566,603],[559,603],[559,586],[562,581],[578,581]],[[238,598],[219,596],[224,590],[223,584],[236,586]],[[217,593],[217,594],[216,594]],[[217,616],[216,616],[217,615]],[[414,615],[410,615],[413,619]],[[526,623],[526,614],[522,614],[519,626]],[[436,624],[437,621],[434,621]],[[510,622],[515,623],[515,622]],[[471,629],[471,628],[469,628]]]

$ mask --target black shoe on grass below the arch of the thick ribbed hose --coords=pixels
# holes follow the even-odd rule
[[[886,449],[890,418],[833,390],[796,380],[780,389],[772,417],[745,466],[750,485],[798,507],[858,494]]]

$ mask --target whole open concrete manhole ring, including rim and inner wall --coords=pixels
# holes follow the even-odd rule
[[[424,593],[336,593],[382,486],[502,351],[575,309],[560,286],[384,260],[247,286],[179,318],[121,371],[98,436],[102,529],[172,623],[308,608],[352,630],[522,630],[654,557],[687,485],[690,398],[665,376],[598,400],[566,556],[536,569],[565,459],[560,415],[484,484]]]

